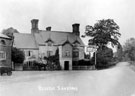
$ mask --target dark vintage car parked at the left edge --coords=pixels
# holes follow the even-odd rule
[[[12,75],[12,68],[7,66],[0,66],[0,75],[6,73],[8,76]]]

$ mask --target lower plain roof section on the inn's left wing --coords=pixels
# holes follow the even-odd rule
[[[32,34],[14,33],[14,47],[38,49]]]

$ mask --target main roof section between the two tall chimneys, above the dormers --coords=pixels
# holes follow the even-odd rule
[[[75,42],[75,40],[77,39],[80,45],[84,46],[84,43],[82,42],[81,38],[71,32],[40,30],[39,33],[35,33],[34,35],[39,45],[40,44],[43,45],[44,42],[48,40],[49,35],[51,35],[51,40],[54,41],[54,45],[62,45],[67,41],[67,37],[68,37],[68,40],[71,44]]]

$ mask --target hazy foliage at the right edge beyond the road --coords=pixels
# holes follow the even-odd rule
[[[135,38],[130,38],[123,46],[123,60],[135,61]]]

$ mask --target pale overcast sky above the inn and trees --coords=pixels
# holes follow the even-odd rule
[[[86,25],[110,18],[120,26],[122,44],[135,37],[135,0],[0,0],[0,30],[30,33],[33,18],[39,19],[39,29],[54,31],[72,31],[72,24],[80,23],[81,34]]]

